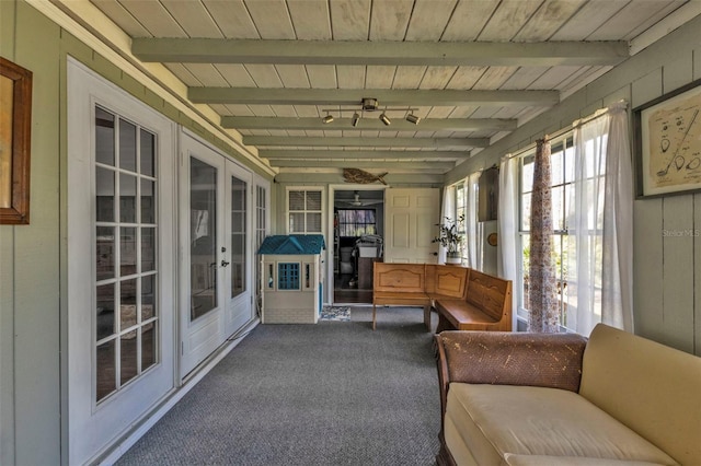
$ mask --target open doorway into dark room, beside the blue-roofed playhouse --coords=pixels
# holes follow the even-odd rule
[[[337,189],[333,196],[334,303],[372,302],[372,264],[381,260],[383,189]]]

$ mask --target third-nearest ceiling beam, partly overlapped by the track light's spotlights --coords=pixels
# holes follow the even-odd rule
[[[336,113],[337,114],[337,113]],[[334,113],[331,113],[334,115]],[[393,118],[390,126],[379,118],[364,114],[358,126],[353,126],[350,118],[334,118],[324,124],[321,118],[296,117],[221,117],[221,126],[233,129],[343,129],[344,131],[475,131],[496,130],[513,131],[518,126],[517,119],[499,118],[423,118],[418,125],[405,119]]]

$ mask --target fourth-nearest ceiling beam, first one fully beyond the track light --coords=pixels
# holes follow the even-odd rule
[[[486,148],[489,138],[315,138],[244,136],[245,145],[356,147],[356,148]]]

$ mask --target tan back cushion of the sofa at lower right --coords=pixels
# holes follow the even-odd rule
[[[701,358],[597,325],[579,394],[681,464],[701,458]]]

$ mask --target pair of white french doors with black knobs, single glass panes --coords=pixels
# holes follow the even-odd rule
[[[251,173],[183,131],[181,364],[185,377],[253,319]]]

